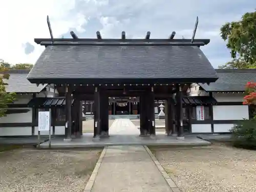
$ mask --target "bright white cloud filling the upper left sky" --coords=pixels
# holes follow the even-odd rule
[[[74,0],[8,0],[0,2],[1,46],[0,58],[11,63],[35,62],[44,47],[36,46],[32,54],[26,55],[24,44],[35,45],[34,38],[49,38],[47,15],[51,20],[54,37],[67,32],[71,27],[83,31],[85,18],[81,14],[70,14]]]

